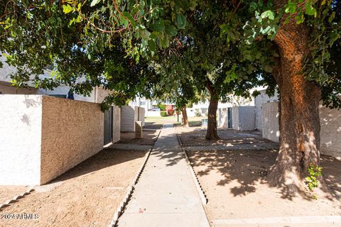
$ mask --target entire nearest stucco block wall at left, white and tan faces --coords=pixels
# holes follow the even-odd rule
[[[99,104],[0,95],[0,184],[45,184],[103,148]]]

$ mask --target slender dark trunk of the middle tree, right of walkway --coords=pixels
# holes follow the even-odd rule
[[[216,139],[219,139],[219,136],[217,133],[218,99],[216,96],[215,88],[212,87],[212,84],[207,83],[206,87],[208,91],[210,92],[210,106],[208,106],[208,122],[207,122],[206,139],[216,140]]]

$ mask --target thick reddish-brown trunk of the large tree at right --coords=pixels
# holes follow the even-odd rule
[[[286,0],[278,1],[285,4]],[[277,4],[278,4],[277,2]],[[269,176],[296,192],[302,186],[310,163],[320,161],[320,89],[303,77],[308,54],[309,31],[295,21],[282,23],[275,38],[280,62],[274,77],[280,92],[280,150]]]

